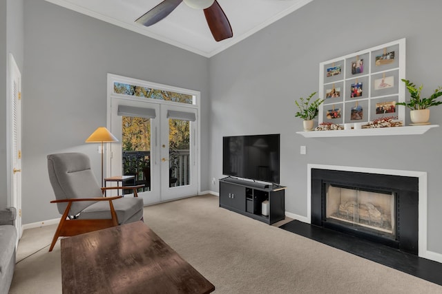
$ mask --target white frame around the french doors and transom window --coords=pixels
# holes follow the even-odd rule
[[[171,101],[162,101],[162,100],[156,100],[151,98],[144,98],[144,97],[137,97],[137,96],[127,96],[124,94],[115,94],[113,92],[113,84],[114,82],[117,83],[127,83],[130,85],[139,85],[142,87],[149,87],[157,90],[165,90],[170,92],[177,92],[182,94],[189,94],[195,97],[195,102],[193,105],[191,104],[184,104],[184,103],[177,103],[177,102],[171,102]],[[195,175],[195,181],[196,181],[196,194],[199,195],[201,193],[201,180],[200,180],[200,170],[201,170],[201,131],[200,131],[200,91],[195,90],[189,90],[184,89],[181,87],[174,87],[170,85],[163,85],[160,83],[153,83],[148,81],[142,81],[136,78],[129,78],[126,76],[119,76],[117,74],[107,74],[107,113],[106,113],[106,127],[108,129],[111,129],[111,104],[113,98],[120,98],[120,99],[127,99],[132,101],[148,101],[151,103],[157,103],[157,104],[166,104],[166,105],[175,105],[178,107],[189,107],[192,109],[196,109],[197,113],[197,120],[196,120],[196,126],[195,126],[195,134],[198,138],[197,143],[195,145],[195,160],[196,160],[196,175]],[[110,143],[106,143],[110,144]],[[106,146],[106,149],[108,146]],[[104,177],[113,176],[111,175],[111,156],[112,152],[106,152],[106,171]],[[193,196],[193,195],[192,195]],[[189,196],[184,196],[183,198],[186,198]],[[161,199],[161,198],[160,198]],[[178,198],[177,198],[178,199]],[[169,201],[169,200],[165,200]],[[163,202],[163,200],[160,200],[160,202]]]

